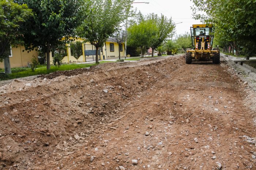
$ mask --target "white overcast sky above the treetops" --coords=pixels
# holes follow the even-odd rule
[[[192,24],[200,24],[198,20],[192,19],[193,3],[190,0],[135,0],[134,2],[149,2],[149,4],[132,4],[133,8],[137,8],[143,15],[149,13],[157,13],[172,17],[176,25],[176,33],[181,34],[186,31],[190,32]]]

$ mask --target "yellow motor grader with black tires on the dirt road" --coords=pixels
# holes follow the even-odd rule
[[[192,60],[212,60],[212,63],[219,64],[219,47],[217,49],[212,49],[213,38],[212,24],[192,25],[191,40],[194,49],[186,50],[186,63],[191,64]]]

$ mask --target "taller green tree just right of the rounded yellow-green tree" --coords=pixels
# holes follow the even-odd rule
[[[157,35],[152,39],[150,43],[150,47],[152,48],[152,51],[154,51],[157,47],[161,46],[163,41],[171,36],[175,29],[175,25],[172,19],[167,19],[167,17],[162,14],[159,17],[157,14],[151,13],[146,18],[153,20],[158,28]],[[152,57],[153,56],[154,52],[152,52]]]

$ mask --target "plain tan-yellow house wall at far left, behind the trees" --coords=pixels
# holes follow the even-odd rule
[[[24,52],[23,52],[24,50]],[[37,51],[33,50],[29,53],[25,50],[25,47],[18,46],[10,48],[10,63],[11,68],[13,67],[27,67],[28,62],[35,56],[38,57]],[[0,63],[0,68],[4,68],[4,63]]]

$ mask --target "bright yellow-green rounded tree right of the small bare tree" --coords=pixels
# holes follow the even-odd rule
[[[150,47],[151,42],[156,39],[158,27],[154,20],[145,20],[139,24],[133,24],[127,31],[128,46],[140,47],[141,56],[143,56],[143,47]]]

